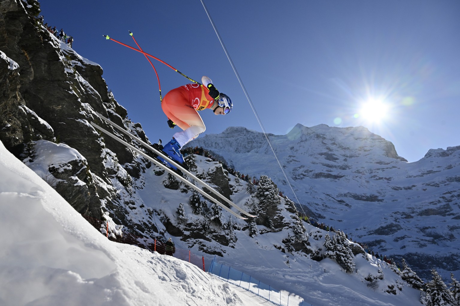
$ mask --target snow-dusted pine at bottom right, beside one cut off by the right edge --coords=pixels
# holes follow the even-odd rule
[[[436,272],[431,270],[433,278],[425,284],[425,305],[427,306],[456,306],[454,296],[443,282],[443,278]]]

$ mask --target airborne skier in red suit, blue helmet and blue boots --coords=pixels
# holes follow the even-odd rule
[[[174,128],[177,125],[183,129],[173,135],[173,139],[163,147],[163,152],[181,164],[184,164],[184,156],[180,149],[206,130],[197,111],[209,108],[216,115],[225,115],[233,107],[230,98],[219,93],[210,78],[202,77],[201,82],[203,85],[194,83],[172,89],[161,102],[161,108],[168,117],[169,127]],[[176,168],[159,158],[169,167]]]

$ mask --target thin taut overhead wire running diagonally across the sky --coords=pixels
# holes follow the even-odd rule
[[[295,193],[295,191],[294,191],[294,189],[293,189],[293,186],[292,186],[292,184],[290,183],[289,178],[288,178],[286,172],[284,172],[284,169],[283,169],[283,167],[282,167],[282,165],[281,165],[280,160],[278,159],[278,156],[276,156],[276,152],[275,152],[275,150],[273,149],[273,146],[271,145],[270,139],[268,138],[268,135],[267,135],[267,132],[266,132],[266,130],[265,130],[265,127],[264,127],[264,125],[263,125],[263,123],[262,123],[262,120],[260,119],[259,114],[257,113],[257,111],[256,111],[256,109],[255,109],[255,106],[254,106],[254,104],[253,104],[253,101],[251,100],[251,98],[249,97],[249,94],[247,93],[246,87],[244,86],[243,81],[242,81],[242,79],[240,78],[240,75],[239,75],[238,71],[236,70],[236,67],[235,67],[235,65],[234,65],[234,63],[233,63],[233,61],[232,61],[232,59],[231,59],[231,57],[230,57],[230,54],[229,54],[227,48],[226,48],[225,45],[224,45],[224,41],[223,41],[222,37],[220,36],[219,31],[217,30],[217,27],[216,27],[216,25],[215,25],[215,23],[214,23],[214,21],[213,21],[213,18],[211,17],[211,14],[209,13],[209,11],[208,11],[208,9],[207,9],[207,7],[206,7],[206,5],[205,5],[205,3],[204,3],[203,0],[201,0],[201,4],[203,5],[204,10],[206,11],[207,17],[209,18],[209,21],[211,22],[211,24],[212,24],[212,26],[213,26],[214,32],[216,33],[217,38],[219,39],[220,45],[222,45],[222,48],[224,49],[225,55],[227,56],[227,59],[228,59],[229,62],[230,62],[230,65],[231,65],[231,67],[232,67],[232,69],[233,69],[233,72],[235,72],[236,78],[238,79],[238,82],[240,83],[240,86],[241,86],[241,88],[243,89],[244,95],[246,95],[246,99],[247,99],[247,101],[249,102],[249,105],[251,106],[251,109],[253,110],[253,113],[254,113],[254,115],[255,115],[255,117],[256,117],[256,119],[257,119],[257,122],[259,122],[260,128],[262,128],[262,132],[263,132],[264,135],[265,135],[265,139],[267,140],[267,143],[268,143],[268,145],[270,146],[270,149],[271,149],[271,151],[273,152],[273,155],[275,156],[275,159],[276,159],[276,161],[278,162],[278,165],[280,166],[280,169],[281,169],[281,171],[282,171],[282,173],[283,173],[283,175],[284,175],[284,178],[286,178],[286,182],[288,183],[289,187],[291,188],[291,190],[292,190],[292,192],[293,192],[293,195],[294,195],[295,199],[297,200],[297,203],[299,204],[300,209],[302,209],[302,212],[303,212],[304,215],[305,215],[305,211],[304,211],[302,205],[300,204],[299,198],[297,197],[297,194]],[[308,219],[308,223],[310,223],[310,219]],[[311,224],[311,223],[310,223],[310,224]]]

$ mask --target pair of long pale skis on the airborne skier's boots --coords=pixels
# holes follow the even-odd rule
[[[155,149],[154,147],[152,147],[151,145],[147,144],[146,142],[144,142],[142,139],[139,139],[138,137],[136,137],[135,135],[131,134],[130,132],[128,132],[127,130],[125,130],[124,128],[121,128],[120,126],[118,126],[116,123],[110,121],[108,118],[102,116],[101,114],[97,113],[97,116],[100,117],[102,120],[104,120],[105,122],[109,123],[112,127],[114,128],[117,128],[118,130],[120,130],[123,134],[127,135],[128,137],[130,137],[131,139],[133,140],[136,140],[138,141],[141,145],[143,145],[145,148],[149,149],[150,151],[152,151],[153,153],[155,153],[156,155],[158,156],[161,156],[162,158],[164,158],[167,162],[171,163],[172,165],[174,165],[175,167],[177,167],[179,170],[181,170],[182,172],[186,173],[188,176],[190,176],[190,178],[193,178],[196,182],[200,183],[203,187],[205,187],[206,189],[210,190],[214,195],[217,195],[220,199],[224,200],[226,203],[228,203],[230,206],[232,207],[235,207],[238,211],[242,212],[243,214],[245,214],[246,216],[248,217],[256,217],[256,216],[253,216],[252,214],[248,213],[247,211],[243,210],[241,207],[237,206],[235,203],[233,203],[232,201],[230,201],[229,199],[225,198],[223,195],[221,195],[217,190],[213,189],[211,186],[209,186],[207,183],[203,182],[200,178],[197,178],[194,174],[192,174],[190,171],[188,171],[187,169],[185,169],[181,164],[179,164],[178,162],[174,161],[173,159],[171,159],[169,156],[167,156],[163,151],[161,150],[157,150]],[[137,152],[139,155],[141,156],[144,156],[145,158],[147,158],[149,161],[152,161],[155,165],[161,167],[162,169],[164,169],[165,171],[167,171],[168,173],[170,173],[171,175],[175,176],[176,178],[178,178],[179,180],[183,181],[185,184],[189,185],[190,187],[192,187],[193,189],[195,189],[196,191],[200,192],[202,195],[204,195],[205,197],[207,197],[209,200],[212,200],[213,202],[215,202],[216,204],[218,204],[219,206],[221,206],[222,208],[224,208],[225,210],[229,211],[231,214],[233,214],[234,216],[238,217],[238,218],[242,218],[242,219],[247,219],[246,217],[242,217],[240,215],[238,215],[235,211],[232,211],[230,210],[229,207],[223,205],[222,203],[219,202],[219,200],[217,200],[217,198],[213,197],[212,195],[209,195],[207,194],[207,192],[205,192],[204,190],[200,189],[199,187],[197,187],[195,184],[189,182],[187,179],[185,179],[184,177],[182,177],[179,173],[175,172],[173,169],[167,167],[165,164],[163,164],[161,161],[159,160],[156,160],[150,156],[148,156],[147,154],[145,154],[144,152],[142,152],[141,150],[135,148],[134,146],[128,144],[126,141],[124,141],[123,139],[120,139],[119,137],[115,136],[114,134],[110,133],[109,131],[105,130],[104,128],[98,126],[96,123],[94,122],[91,122],[91,125],[95,128],[98,128],[100,131],[104,132],[104,134],[107,134],[108,136],[112,137],[113,139],[117,140],[118,142],[120,142],[121,144],[127,146],[128,148],[130,148],[131,150]]]

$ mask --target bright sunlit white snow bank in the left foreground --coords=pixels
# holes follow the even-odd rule
[[[265,301],[188,262],[109,241],[1,143],[0,171],[2,306]]]

